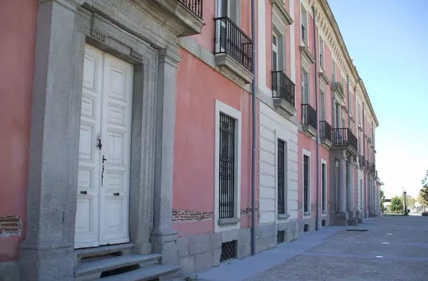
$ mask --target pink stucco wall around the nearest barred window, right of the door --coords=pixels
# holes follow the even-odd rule
[[[216,99],[242,114],[240,209],[248,208],[251,203],[252,97],[188,51],[181,49],[180,56],[182,61],[178,65],[175,113],[173,209],[214,212]],[[203,79],[195,78],[190,73],[198,73],[198,77]],[[174,222],[173,228],[178,230],[179,236],[198,235],[213,232],[214,223],[214,220]],[[240,226],[248,228],[250,217],[243,216]]]

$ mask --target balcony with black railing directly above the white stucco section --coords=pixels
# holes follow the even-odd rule
[[[284,71],[272,71],[272,97],[275,107],[285,111],[288,116],[295,116],[295,83]]]

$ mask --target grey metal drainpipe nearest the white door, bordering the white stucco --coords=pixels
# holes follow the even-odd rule
[[[253,143],[251,154],[251,255],[255,255],[255,102],[256,102],[256,87],[255,87],[255,0],[251,0],[251,38],[253,39],[253,74],[254,78],[251,83],[251,91],[253,93]]]

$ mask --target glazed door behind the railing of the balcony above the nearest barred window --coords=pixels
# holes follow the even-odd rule
[[[228,17],[234,24],[240,26],[240,0],[217,0],[217,17]],[[227,19],[217,21],[216,44],[220,47],[220,52],[223,53],[227,49],[228,34],[230,34],[230,22]],[[230,36],[230,35],[229,35]]]

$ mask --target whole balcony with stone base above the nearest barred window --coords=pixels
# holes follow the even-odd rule
[[[215,21],[215,64],[223,75],[239,85],[251,83],[253,40],[227,16]]]

